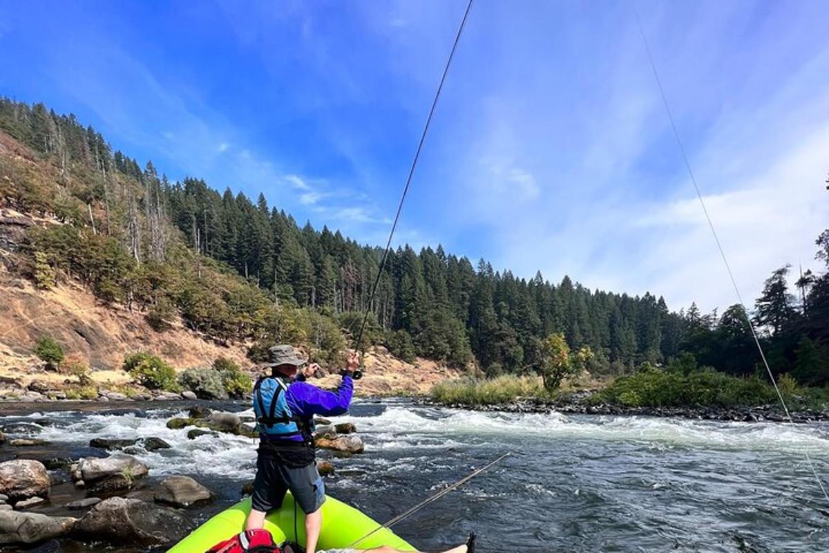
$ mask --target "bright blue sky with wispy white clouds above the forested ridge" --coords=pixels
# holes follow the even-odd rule
[[[395,244],[531,277],[734,302],[630,2],[477,0]],[[0,8],[0,94],[173,179],[385,242],[463,0]],[[638,2],[691,164],[754,298],[827,226],[822,2]]]

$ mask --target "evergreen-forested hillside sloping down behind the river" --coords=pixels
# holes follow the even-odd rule
[[[293,341],[332,360],[353,339],[348,331],[359,326],[359,312],[371,307],[368,341],[404,359],[453,366],[474,359],[490,375],[536,371],[542,342],[556,332],[571,348],[592,350],[594,371],[667,361],[682,350],[724,370],[755,369],[739,308],[721,318],[696,307],[672,313],[650,293],[585,289],[567,276],[555,283],[541,274],[516,278],[440,246],[390,252],[369,306],[377,247],[326,226],[298,226],[262,194],[252,201],[230,189],[220,193],[196,177],[169,182],[153,163],[113,153],[94,129],[42,104],[0,100],[0,129],[48,167],[36,170],[27,153],[7,145],[0,151],[3,201],[66,223],[33,229],[19,269],[43,287],[80,279],[102,301],[145,312],[158,332],[181,316],[218,340],[255,342],[252,358],[271,342]],[[827,236],[822,240],[826,248]],[[796,303],[779,290],[784,276],[767,284],[758,322],[769,340],[791,334],[774,351],[780,366],[793,370],[803,348],[827,358],[829,324],[815,317],[829,311],[829,284],[809,275],[802,283],[808,297]]]

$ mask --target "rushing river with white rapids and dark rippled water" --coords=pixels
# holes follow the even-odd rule
[[[5,415],[0,424],[38,424],[38,437],[51,442],[39,454],[75,458],[100,455],[87,447],[95,437],[158,436],[173,448],[138,455],[150,467],[145,488],[167,474],[193,476],[217,495],[192,512],[200,521],[238,500],[255,471],[252,440],[188,440],[165,426],[181,408],[156,405]],[[829,505],[804,458],[811,454],[826,476],[829,424],[517,415],[407,400],[357,400],[336,420],[357,425],[366,453],[334,459],[328,493],[380,521],[512,452],[395,526],[425,550],[476,531],[480,551],[829,551]],[[0,449],[2,458],[9,452]],[[53,502],[71,484],[64,487]],[[65,542],[58,551],[84,549]]]

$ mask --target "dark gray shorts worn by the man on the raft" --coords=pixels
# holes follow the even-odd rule
[[[317,463],[293,468],[269,455],[259,455],[251,507],[262,512],[279,509],[288,490],[306,515],[318,511],[325,502],[325,484],[317,470]]]

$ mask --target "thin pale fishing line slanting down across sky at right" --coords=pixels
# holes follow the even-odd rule
[[[763,350],[762,344],[760,344],[760,339],[757,335],[757,331],[754,329],[754,324],[751,323],[751,319],[749,318],[749,310],[746,308],[745,302],[743,301],[743,294],[739,291],[739,286],[737,285],[737,279],[734,278],[734,272],[731,270],[731,264],[728,261],[728,257],[725,255],[725,249],[723,248],[722,243],[720,242],[720,235],[717,234],[716,227],[714,226],[714,221],[711,219],[710,213],[708,212],[707,206],[705,206],[705,199],[702,196],[702,192],[700,191],[700,186],[696,182],[696,177],[694,176],[694,171],[691,169],[691,162],[688,160],[688,155],[685,150],[685,146],[682,143],[682,139],[680,138],[679,130],[676,128],[676,122],[673,117],[673,113],[671,112],[671,105],[668,104],[667,95],[665,94],[665,89],[662,87],[662,79],[659,78],[659,71],[657,70],[657,64],[653,61],[653,55],[651,52],[651,46],[647,41],[647,36],[645,36],[644,27],[642,27],[642,19],[639,17],[639,10],[636,7],[636,2],[631,2],[633,5],[633,14],[636,16],[636,24],[639,29],[639,36],[642,36],[642,43],[645,46],[645,51],[647,52],[647,61],[650,62],[651,70],[653,71],[653,77],[657,81],[657,88],[659,89],[659,95],[662,97],[662,104],[665,106],[665,113],[667,114],[668,121],[671,123],[671,129],[673,130],[674,138],[676,139],[676,145],[679,147],[679,151],[682,156],[682,161],[685,163],[686,171],[688,172],[688,177],[691,178],[691,182],[694,185],[694,190],[696,191],[696,197],[700,200],[700,205],[702,206],[702,211],[705,213],[705,221],[708,221],[708,228],[711,230],[711,235],[714,236],[714,241],[717,245],[717,250],[720,250],[720,258],[722,258],[723,264],[725,265],[725,270],[728,273],[729,279],[731,280],[731,285],[734,287],[734,292],[737,294],[737,299],[739,300],[739,304],[743,308],[743,313],[745,315],[745,322],[749,326],[749,331],[751,331],[751,337],[754,338],[754,344],[757,346],[757,351],[760,353],[760,359],[763,360],[763,365],[766,368],[766,372],[768,372],[768,378],[772,381],[772,386],[774,386],[774,391],[777,392],[778,399],[780,400],[780,404],[783,405],[783,411],[786,414],[786,420],[790,424],[794,424],[794,420],[792,419],[791,413],[789,413],[788,405],[786,405],[786,400],[783,399],[783,394],[780,392],[780,388],[778,387],[777,381],[774,380],[774,374],[771,370],[771,367],[768,365],[768,360],[766,358],[766,354]],[[823,497],[826,497],[827,502],[829,502],[829,493],[827,493],[827,489],[823,486],[823,482],[821,478],[817,475],[817,470],[815,469],[814,463],[812,463],[812,456],[809,455],[808,451],[804,450],[804,455],[806,456],[807,463],[809,468],[812,470],[812,475],[815,477],[815,481],[817,485],[821,488],[821,492],[823,492]]]

